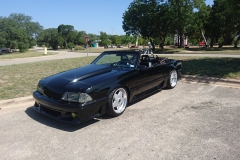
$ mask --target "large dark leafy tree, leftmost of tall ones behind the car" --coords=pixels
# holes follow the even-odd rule
[[[159,0],[135,0],[123,14],[123,29],[128,35],[155,38],[163,48],[165,37],[170,32],[172,12],[167,2]],[[163,16],[164,15],[164,16]]]

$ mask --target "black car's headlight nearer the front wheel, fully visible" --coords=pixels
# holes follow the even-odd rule
[[[69,102],[86,103],[92,101],[92,97],[87,93],[65,92],[62,96],[62,100]]]

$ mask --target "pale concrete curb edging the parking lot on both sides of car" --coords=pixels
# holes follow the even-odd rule
[[[231,88],[240,88],[240,80],[235,80],[235,79],[222,79],[222,78],[214,78],[214,77],[182,75],[180,81],[189,82],[189,83],[214,84],[217,86],[231,87]],[[16,104],[26,103],[31,101],[34,103],[34,98],[32,96],[1,100],[0,109],[9,105],[16,105]]]

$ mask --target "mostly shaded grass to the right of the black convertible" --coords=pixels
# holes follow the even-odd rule
[[[167,56],[182,60],[182,74],[240,80],[240,58]]]

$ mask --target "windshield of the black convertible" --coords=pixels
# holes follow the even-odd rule
[[[137,65],[137,55],[137,53],[127,52],[103,53],[92,64],[135,68]]]

